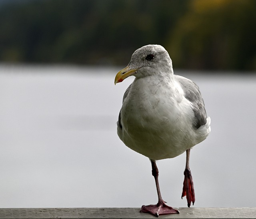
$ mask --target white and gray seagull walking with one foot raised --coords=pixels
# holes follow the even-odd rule
[[[190,149],[210,133],[204,100],[192,80],[174,74],[172,60],[160,45],[136,50],[128,66],[116,74],[114,83],[129,76],[135,79],[124,92],[117,133],[127,147],[150,159],[158,195],[156,205],[142,205],[140,212],[156,217],[179,213],[162,199],[156,161],[186,151],[182,197],[186,196],[188,207],[191,202],[194,205],[189,157]]]

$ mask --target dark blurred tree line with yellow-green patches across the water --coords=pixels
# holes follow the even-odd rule
[[[256,70],[255,0],[12,0],[0,62],[126,65],[161,44],[174,67]]]

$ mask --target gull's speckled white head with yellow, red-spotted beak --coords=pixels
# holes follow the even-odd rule
[[[143,78],[158,74],[173,74],[172,60],[164,47],[147,45],[132,54],[128,66],[116,74],[115,84],[132,75]]]

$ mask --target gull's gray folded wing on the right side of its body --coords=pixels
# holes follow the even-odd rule
[[[195,128],[198,129],[206,124],[207,115],[204,108],[204,100],[201,96],[198,86],[182,76],[174,75],[175,79],[180,83],[185,93],[185,98],[193,104],[193,111],[196,117]]]

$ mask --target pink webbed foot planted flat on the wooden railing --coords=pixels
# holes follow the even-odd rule
[[[180,213],[178,210],[166,205],[164,201],[157,203],[156,205],[142,205],[140,212],[150,213],[156,217],[159,215]]]

